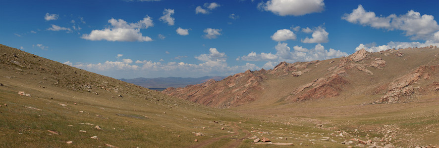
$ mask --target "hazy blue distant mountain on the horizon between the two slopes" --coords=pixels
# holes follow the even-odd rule
[[[203,77],[159,77],[144,78],[138,77],[133,79],[119,79],[128,83],[133,83],[145,88],[168,88],[168,87],[185,87],[191,84],[204,83],[209,79],[222,80],[225,76],[203,76]]]

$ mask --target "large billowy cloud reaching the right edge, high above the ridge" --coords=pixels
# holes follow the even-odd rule
[[[421,15],[421,13],[409,10],[406,14],[397,16],[376,16],[375,12],[366,12],[360,4],[352,13],[344,14],[342,19],[363,26],[371,26],[376,29],[401,30],[405,36],[411,39],[428,40],[439,30],[439,25],[433,15]]]

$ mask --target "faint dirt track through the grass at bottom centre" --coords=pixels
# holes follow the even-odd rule
[[[206,147],[206,146],[208,146],[210,144],[213,144],[215,142],[218,142],[218,141],[220,141],[221,139],[224,139],[224,138],[230,138],[230,139],[232,139],[232,142],[224,144],[222,147],[225,147],[225,148],[236,148],[236,147],[238,147],[241,144],[241,142],[245,138],[250,136],[250,132],[245,130],[242,127],[239,127],[236,124],[236,122],[233,123],[232,128],[233,128],[233,133],[230,134],[230,135],[224,135],[224,136],[221,136],[221,137],[209,139],[209,140],[200,142],[199,144],[197,144],[195,146],[192,146],[191,148],[204,148],[204,147]],[[238,137],[238,138],[235,138],[236,135],[240,135],[241,134],[240,130],[243,131],[246,135]]]

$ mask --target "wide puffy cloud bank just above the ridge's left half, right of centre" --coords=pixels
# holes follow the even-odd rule
[[[313,60],[326,60],[332,58],[338,58],[342,56],[348,56],[347,53],[341,52],[340,50],[335,50],[329,48],[326,50],[324,46],[321,44],[317,44],[312,49],[307,49],[302,46],[294,46],[294,51],[291,51],[291,48],[287,43],[278,42],[274,47],[276,49],[276,54],[256,54],[255,52],[251,52],[246,56],[242,56],[241,60],[244,61],[286,61],[286,62],[297,62],[297,61],[313,61]],[[270,58],[267,58],[270,57]],[[266,64],[264,67],[267,68],[272,64]]]

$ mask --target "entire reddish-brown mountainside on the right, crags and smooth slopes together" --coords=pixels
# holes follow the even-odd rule
[[[246,71],[165,94],[211,107],[230,108],[332,97],[370,98],[366,103],[409,101],[438,94],[439,48],[367,52],[325,61],[279,63],[272,70]]]

